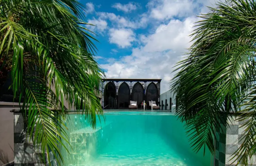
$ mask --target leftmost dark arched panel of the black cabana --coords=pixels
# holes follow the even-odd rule
[[[105,109],[115,109],[116,88],[113,82],[108,82],[104,90]],[[106,107],[107,106],[107,107]]]

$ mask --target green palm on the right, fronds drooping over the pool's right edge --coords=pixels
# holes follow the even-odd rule
[[[244,142],[235,152],[248,165],[256,152],[256,2],[227,0],[199,16],[187,58],[177,64],[172,82],[178,117],[186,122],[195,151],[214,153],[214,129],[228,113],[239,115]],[[227,122],[224,123],[228,126]]]

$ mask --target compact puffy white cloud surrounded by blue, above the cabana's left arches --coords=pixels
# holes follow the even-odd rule
[[[135,34],[131,29],[114,29],[109,30],[109,42],[115,43],[121,48],[131,46],[131,43],[135,41]]]

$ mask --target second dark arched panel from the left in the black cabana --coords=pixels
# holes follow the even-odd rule
[[[125,109],[129,108],[130,102],[130,88],[123,82],[118,89],[118,108]]]

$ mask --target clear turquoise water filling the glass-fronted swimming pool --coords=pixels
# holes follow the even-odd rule
[[[168,112],[105,112],[91,129],[84,115],[71,114],[67,122],[68,154],[65,166],[211,166],[209,151],[194,153],[183,124]]]

